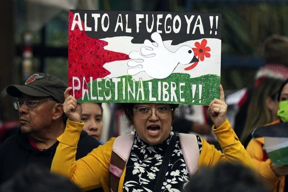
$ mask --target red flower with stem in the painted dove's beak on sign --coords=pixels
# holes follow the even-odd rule
[[[207,45],[207,40],[203,39],[201,41],[201,44],[199,44],[199,42],[195,43],[196,48],[192,48],[195,57],[197,57],[197,59],[199,61],[204,61],[205,57],[209,58],[211,55],[210,53],[208,53],[210,51],[210,47],[206,47]],[[193,63],[192,65],[190,65],[189,67],[186,67],[184,70],[190,70],[193,69],[194,67],[196,67],[196,65],[198,64],[199,61],[196,61],[195,63]]]

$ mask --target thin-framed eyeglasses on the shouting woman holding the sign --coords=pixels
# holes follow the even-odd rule
[[[137,114],[143,118],[146,119],[148,117],[151,116],[152,111],[155,111],[155,114],[161,118],[161,119],[165,119],[167,118],[171,112],[173,111],[172,107],[169,106],[164,106],[164,107],[158,107],[156,110],[152,110],[149,107],[143,107],[143,106],[139,106],[136,107],[135,109],[133,109],[134,111],[137,112]]]

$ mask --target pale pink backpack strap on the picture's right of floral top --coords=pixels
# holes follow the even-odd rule
[[[189,175],[192,176],[198,169],[199,147],[196,135],[179,133],[182,154]]]

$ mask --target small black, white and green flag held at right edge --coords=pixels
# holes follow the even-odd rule
[[[288,122],[256,128],[253,138],[263,137],[269,159],[276,165],[288,164]]]

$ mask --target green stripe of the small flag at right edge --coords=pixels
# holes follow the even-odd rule
[[[275,165],[288,164],[288,147],[269,152],[267,155]]]

